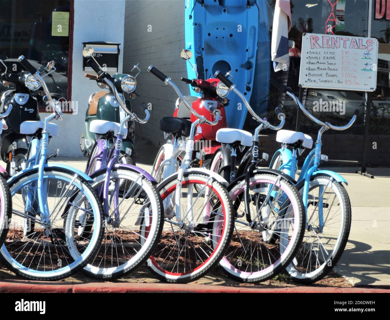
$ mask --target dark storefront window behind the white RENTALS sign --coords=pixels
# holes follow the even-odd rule
[[[300,88],[298,79],[300,73],[300,50],[301,39],[304,32],[319,34],[337,34],[346,36],[367,37],[369,24],[371,23],[371,37],[379,41],[378,55],[378,79],[377,90],[373,93],[373,107],[371,115],[376,118],[379,115],[390,118],[389,106],[389,66],[390,66],[390,47],[389,47],[389,21],[385,18],[375,20],[376,0],[372,0],[372,17],[369,21],[369,0],[291,0],[292,28],[289,32],[289,40],[294,45],[291,52],[291,60],[288,71],[288,86],[298,96]],[[381,2],[381,1],[379,1]],[[267,0],[268,17],[270,26],[270,39],[272,34],[273,13],[275,11],[275,0]],[[333,9],[333,10],[332,10]],[[386,15],[385,15],[386,16]],[[335,23],[335,20],[337,23]],[[270,62],[271,63],[271,62]],[[271,67],[271,77],[282,81],[287,74],[282,71],[273,72]],[[271,86],[268,100],[267,115],[273,117],[273,110],[280,103],[278,90]],[[360,91],[339,91],[328,89],[307,89],[303,92],[305,107],[313,111],[313,102],[322,98],[323,100],[337,100],[345,102],[345,113],[318,113],[318,118],[331,122],[335,125],[345,124],[351,118],[356,109],[360,110],[360,116],[355,125],[345,133],[362,134],[365,111],[365,94]],[[284,109],[288,114],[285,129],[295,129],[296,107],[293,101],[286,97],[284,100]],[[375,115],[375,113],[377,115]],[[382,121],[382,120],[381,120]],[[383,121],[382,121],[383,122]],[[305,126],[305,131],[316,132],[318,126],[311,120],[302,116],[301,125]],[[389,126],[390,128],[390,126]],[[386,131],[386,130],[385,130]],[[390,133],[385,132],[383,133]],[[329,133],[329,132],[327,132]]]

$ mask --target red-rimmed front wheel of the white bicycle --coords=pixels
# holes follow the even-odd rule
[[[161,241],[148,260],[148,266],[162,280],[186,283],[199,279],[223,256],[232,235],[233,210],[226,189],[212,177],[184,173],[180,198],[181,222],[174,204],[176,179],[158,186],[165,204]],[[195,184],[202,186],[197,192]],[[165,215],[167,216],[167,215]]]

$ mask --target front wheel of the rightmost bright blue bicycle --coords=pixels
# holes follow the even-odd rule
[[[303,194],[303,186],[299,192]],[[316,282],[332,270],[344,251],[351,229],[347,191],[332,177],[313,177],[307,201],[305,235],[287,267],[293,280],[301,283]]]

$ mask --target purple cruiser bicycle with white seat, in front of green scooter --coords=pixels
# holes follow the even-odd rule
[[[146,123],[150,114],[145,104],[141,104],[146,116],[140,119],[131,112],[129,101],[122,100],[124,93],[135,91],[135,77],[104,72],[93,57],[93,48],[86,47],[83,55],[90,58],[87,64],[97,74],[86,77],[96,80],[100,88],[108,89],[106,100],[115,98],[126,113],[120,123],[101,119],[90,122],[89,130],[96,135],[96,143],[85,170],[94,179],[92,187],[103,203],[105,232],[96,257],[84,271],[93,277],[117,278],[146,261],[162,231],[163,206],[156,180],[141,168],[120,161],[122,141],[128,134],[126,123]],[[86,212],[78,234],[87,237],[90,218]]]

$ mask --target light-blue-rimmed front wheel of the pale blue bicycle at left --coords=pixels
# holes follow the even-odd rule
[[[12,219],[1,256],[13,272],[28,279],[63,279],[96,254],[103,237],[101,204],[92,187],[74,172],[45,168],[43,193],[47,197],[45,211],[49,213],[45,221],[41,218],[37,182],[38,170],[34,170],[10,184]],[[85,212],[92,217],[89,238],[77,234]],[[27,236],[25,218],[31,226]]]

